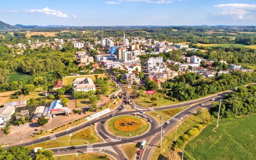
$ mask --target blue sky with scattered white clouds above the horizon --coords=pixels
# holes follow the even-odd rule
[[[5,0],[11,25],[254,25],[256,0]]]

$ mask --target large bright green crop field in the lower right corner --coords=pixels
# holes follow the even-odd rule
[[[215,122],[185,147],[189,160],[255,160],[256,115]]]

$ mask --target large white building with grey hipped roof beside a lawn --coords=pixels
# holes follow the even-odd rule
[[[77,78],[73,80],[73,87],[74,91],[89,91],[96,89],[95,84],[93,83],[93,80],[90,78]]]

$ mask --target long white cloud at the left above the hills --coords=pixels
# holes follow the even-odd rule
[[[17,10],[1,10],[2,12],[12,12],[12,13],[42,13],[46,15],[54,15],[57,17],[65,17],[67,18],[67,15],[58,11],[49,9],[49,7],[46,7],[44,9],[30,9],[30,10],[23,10],[23,11],[17,11]]]

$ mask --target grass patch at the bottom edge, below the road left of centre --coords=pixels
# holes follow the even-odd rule
[[[114,160],[113,157],[107,154],[102,154],[102,153],[82,153],[78,154],[78,159],[79,160]],[[55,156],[56,160],[58,159],[58,156]],[[65,156],[60,156],[60,160],[76,160],[76,154],[70,154],[70,155],[65,155]]]

